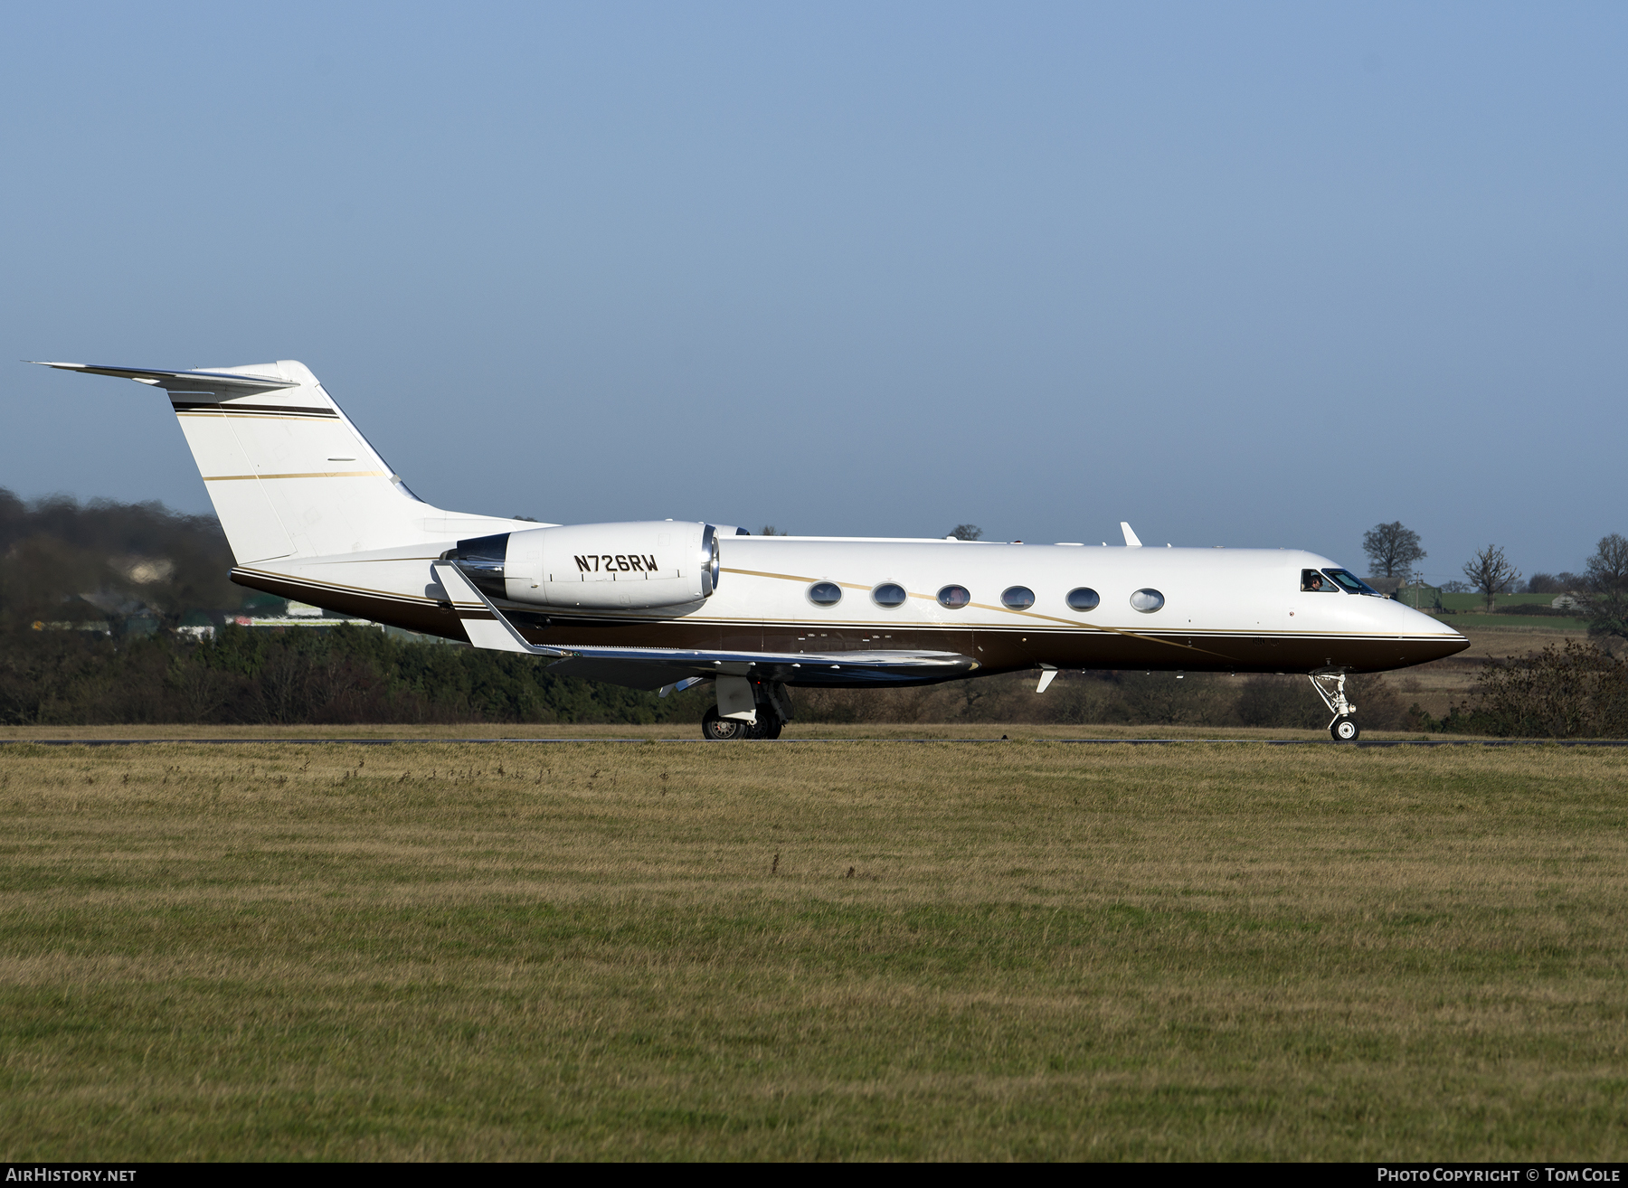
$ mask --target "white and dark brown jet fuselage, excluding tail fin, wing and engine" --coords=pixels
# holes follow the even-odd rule
[[[532,526],[526,526],[531,529]],[[583,529],[573,529],[581,532]],[[456,542],[262,563],[239,570],[247,584],[293,587],[301,601],[366,614],[414,630],[456,635],[430,565]],[[1337,568],[1288,548],[1153,548],[1031,545],[920,539],[720,537],[711,597],[658,609],[555,609],[505,604],[539,643],[726,646],[770,651],[943,648],[965,651],[985,670],[1158,667],[1306,672],[1376,670],[1420,664],[1467,646],[1462,635],[1389,599],[1343,591],[1306,592],[1304,570]],[[809,597],[835,584],[840,601]],[[904,587],[900,605],[873,591]],[[951,609],[939,591],[970,601]],[[1013,609],[1003,592],[1026,587],[1034,604]],[[1073,610],[1068,592],[1089,587],[1099,604]],[[1136,591],[1162,605],[1141,612]],[[829,594],[827,594],[829,599]],[[527,620],[527,614],[531,618]]]

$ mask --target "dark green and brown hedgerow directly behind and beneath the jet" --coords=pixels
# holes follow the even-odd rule
[[[1304,677],[1070,672],[1044,695],[1034,688],[1034,674],[1021,672],[920,688],[799,688],[791,697],[806,723],[1320,729],[1328,716]],[[1354,679],[1353,697],[1369,729],[1426,721],[1384,677]],[[674,723],[689,734],[708,698],[707,687],[658,698],[555,677],[529,656],[417,643],[344,623],[288,631],[226,627],[200,643],[28,630],[0,640],[0,724],[8,726]]]

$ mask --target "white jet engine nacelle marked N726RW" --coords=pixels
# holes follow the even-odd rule
[[[654,610],[718,589],[718,532],[671,519],[563,524],[459,540],[457,561],[488,597],[540,607]]]

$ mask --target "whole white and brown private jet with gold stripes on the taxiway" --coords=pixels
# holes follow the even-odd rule
[[[47,363],[161,387],[208,485],[231,579],[554,672],[711,682],[710,739],[772,739],[798,685],[1040,669],[1299,672],[1356,739],[1351,672],[1451,656],[1457,631],[1286,548],[754,537],[654,519],[536,524],[414,495],[303,363]]]

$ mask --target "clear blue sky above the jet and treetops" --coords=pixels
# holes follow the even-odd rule
[[[298,358],[427,500],[1628,532],[1621,5],[13,5],[3,358]],[[208,508],[0,366],[0,485]]]

